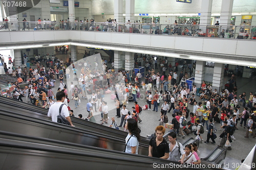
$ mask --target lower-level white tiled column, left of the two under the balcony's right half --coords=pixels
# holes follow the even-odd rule
[[[195,85],[199,88],[204,80],[205,61],[197,61],[195,71]]]

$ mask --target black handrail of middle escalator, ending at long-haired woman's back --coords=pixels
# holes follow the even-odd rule
[[[64,125],[64,124],[59,124],[59,123],[56,123],[56,122],[52,122],[51,120],[34,118],[34,117],[27,116],[27,115],[22,115],[22,114],[14,113],[14,112],[10,113],[10,112],[11,111],[2,112],[0,110],[0,115],[5,115],[5,116],[8,116],[8,117],[14,117],[14,118],[18,118],[18,119],[23,119],[23,120],[26,120],[26,121],[29,121],[29,122],[34,122],[34,123],[37,123],[37,124],[43,124],[43,125],[46,125],[46,126],[49,126],[49,127],[61,128],[61,130],[69,130],[69,131],[78,132],[78,133],[85,133],[85,134],[98,136],[98,137],[102,137],[102,138],[106,138],[106,139],[117,140],[117,141],[120,141],[120,142],[125,141],[125,138],[118,138],[116,136],[105,135],[105,134],[98,133],[98,132],[90,132],[90,131],[87,131],[86,129],[81,129],[81,128],[78,128],[78,127],[71,127],[69,125]],[[33,120],[28,119],[26,117],[32,118]],[[148,147],[148,145],[146,145],[144,143],[140,143],[139,145],[141,147]]]

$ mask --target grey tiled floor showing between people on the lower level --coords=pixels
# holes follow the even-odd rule
[[[82,54],[79,54],[77,59],[81,59],[82,58]],[[59,59],[66,59],[67,55],[58,55],[56,56]],[[178,72],[179,75],[179,72]],[[225,77],[224,78],[224,82],[227,82],[227,80],[230,77]],[[250,91],[252,91],[253,93],[255,92],[255,83],[256,83],[256,79],[255,77],[252,78],[238,78],[237,79],[237,85],[238,85],[238,94],[242,94],[243,91],[245,91],[246,93],[249,93]],[[58,87],[59,81],[56,81],[56,86],[53,88],[54,92],[57,91],[57,87]],[[67,83],[68,84],[68,88],[70,87],[70,82]],[[140,93],[143,94],[145,91],[141,90]],[[114,94],[114,92],[113,92]],[[145,94],[145,93],[144,93]],[[90,98],[90,95],[88,95]],[[110,99],[110,95],[105,95],[104,100],[106,102],[108,102],[108,106],[109,106],[109,117],[115,117],[117,124],[120,124],[120,120],[121,118],[116,118],[116,109],[115,109],[115,101]],[[142,100],[137,100],[138,104],[140,106],[145,105],[145,99]],[[200,100],[198,99],[197,96],[197,101],[200,102]],[[71,107],[71,109],[74,110],[74,115],[78,116],[78,114],[82,114],[83,117],[87,117],[88,113],[85,110],[86,108],[86,104],[87,104],[87,100],[86,99],[81,99],[81,103],[80,106],[75,109],[75,104],[74,101],[71,100],[69,103],[69,106]],[[163,102],[161,102],[163,103]],[[161,106],[160,103],[160,106]],[[133,102],[129,102],[129,105],[127,105],[127,109],[129,111],[132,111],[132,107],[134,106]],[[140,115],[142,122],[139,123],[139,126],[141,128],[141,135],[142,136],[146,136],[147,134],[152,134],[154,133],[154,129],[156,126],[159,125],[159,117],[160,117],[160,106],[158,107],[159,111],[158,112],[154,112],[152,110],[144,110],[142,111],[142,114]],[[188,106],[188,108],[190,110],[193,110],[193,107],[191,105]],[[242,109],[240,109],[241,112]],[[170,112],[172,113],[172,112]],[[170,113],[167,113],[169,120],[171,120],[172,115]],[[100,113],[97,112],[95,113],[95,119],[97,123],[101,123],[100,119]],[[110,123],[110,121],[109,121]],[[110,126],[110,124],[104,124],[104,126]],[[216,127],[219,129],[220,124],[216,123]],[[245,159],[246,156],[249,154],[249,152],[251,151],[251,149],[254,147],[255,145],[255,141],[256,139],[252,138],[252,136],[249,136],[249,138],[244,138],[245,136],[245,132],[246,129],[238,126],[239,130],[236,130],[236,132],[234,133],[234,137],[236,138],[236,140],[234,140],[232,142],[232,150],[231,151],[227,151],[227,155],[226,155],[226,159],[225,159],[225,164],[229,163],[229,168],[230,169],[235,169],[232,168],[231,163],[240,163],[242,159]],[[120,128],[120,130],[123,130],[123,128]],[[168,130],[168,129],[167,129]],[[217,136],[219,136],[222,133],[222,131],[218,131],[217,132]],[[206,135],[207,133],[202,134],[202,137],[204,139],[204,141],[206,140]],[[178,137],[178,141],[180,142],[184,142],[186,139],[188,139],[188,137],[194,137],[194,134],[189,134],[187,137],[185,137],[184,139],[182,139],[181,137]],[[216,139],[216,143],[212,144],[212,143],[200,143],[200,147],[199,147],[199,151],[201,152],[201,157],[206,157],[212,150],[214,150],[217,145],[220,143],[221,139],[219,137],[217,137]]]

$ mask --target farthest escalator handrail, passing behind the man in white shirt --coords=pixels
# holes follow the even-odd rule
[[[3,97],[3,96],[1,96],[1,97],[2,97],[2,98],[0,98],[0,103],[8,104],[8,105],[13,105],[13,106],[15,106],[15,107],[21,107],[20,105],[15,105],[15,104],[13,104],[13,102],[14,102],[14,103],[15,103],[15,102],[20,102],[20,104],[22,104],[22,105],[23,105],[23,104],[29,105],[29,107],[24,106],[24,107],[22,107],[22,108],[27,109],[27,110],[34,111],[34,112],[39,113],[39,114],[44,114],[44,115],[47,116],[48,109],[41,108],[41,107],[38,107],[38,106],[35,106],[35,105],[30,105],[30,104],[28,104],[28,103],[24,103],[24,102],[17,101],[17,100],[14,100],[14,99],[5,98],[5,97]],[[11,103],[11,102],[7,102],[6,99],[8,99],[8,100],[13,100],[13,102],[12,102],[12,103]],[[2,100],[3,100],[3,101],[2,101]],[[44,113],[44,112],[38,112],[38,110],[37,110],[37,109],[34,109],[33,107],[41,108],[42,111],[44,111],[44,112],[46,112],[46,113]],[[118,133],[118,134],[124,135],[124,136],[127,135],[127,132],[120,131],[120,130],[117,130],[117,129],[113,129],[113,128],[110,128],[110,127],[107,127],[107,126],[101,126],[101,125],[99,125],[99,124],[97,124],[97,123],[85,122],[86,120],[82,120],[82,119],[79,119],[79,118],[77,118],[77,117],[72,117],[72,116],[71,116],[71,120],[72,120],[72,122],[74,122],[74,123],[81,124],[81,125],[84,125],[84,126],[91,126],[91,127],[94,127],[94,128],[97,127],[97,129],[102,129],[102,130],[109,131],[109,132],[112,132],[112,133]],[[89,125],[88,125],[88,124],[89,124]],[[141,141],[144,141],[145,143],[149,143],[149,142],[150,142],[150,140],[149,140],[148,138],[143,137],[143,136],[141,136]]]

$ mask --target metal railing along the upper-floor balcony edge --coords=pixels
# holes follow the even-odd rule
[[[0,31],[80,30],[211,38],[256,39],[256,26],[166,25],[155,23],[2,21]]]

